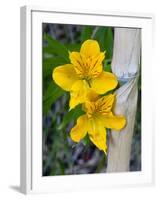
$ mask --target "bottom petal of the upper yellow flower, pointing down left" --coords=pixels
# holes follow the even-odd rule
[[[89,86],[85,80],[76,81],[76,83],[72,86],[70,92],[70,109],[86,101],[88,90]]]

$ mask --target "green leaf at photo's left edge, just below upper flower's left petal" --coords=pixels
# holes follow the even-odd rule
[[[64,91],[52,81],[43,96],[43,112],[47,113],[51,105],[63,94]]]

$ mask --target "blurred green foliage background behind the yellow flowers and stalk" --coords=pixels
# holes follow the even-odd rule
[[[68,112],[69,94],[54,83],[52,71],[57,66],[70,63],[68,52],[79,51],[83,41],[90,38],[96,39],[101,50],[106,51],[104,70],[111,71],[113,30],[111,27],[43,24],[44,176],[105,172],[106,156],[89,142],[88,137],[79,144],[70,139],[69,131],[83,111],[79,105]],[[140,113],[141,105],[138,109]],[[135,131],[139,134],[141,116],[137,116],[137,121],[139,127],[135,126]],[[138,163],[139,167],[133,170],[140,170],[140,160]]]

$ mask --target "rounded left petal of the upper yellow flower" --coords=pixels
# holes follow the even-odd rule
[[[53,70],[52,78],[57,85],[66,91],[70,91],[73,84],[78,80],[73,65],[66,64]]]

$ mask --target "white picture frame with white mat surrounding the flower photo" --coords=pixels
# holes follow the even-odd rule
[[[38,125],[42,124],[42,23],[142,29],[142,171],[42,177],[42,130]],[[35,6],[21,8],[21,192],[79,191],[154,183],[152,76],[149,68],[152,64],[152,30],[153,16],[150,14],[67,11]]]

